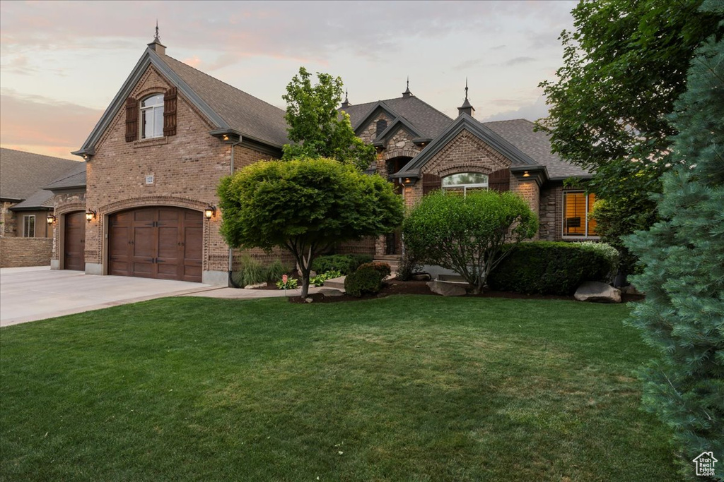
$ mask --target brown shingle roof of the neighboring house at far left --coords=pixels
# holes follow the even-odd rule
[[[83,165],[13,149],[0,149],[0,198],[28,199],[59,176]],[[85,168],[85,165],[83,165]]]

